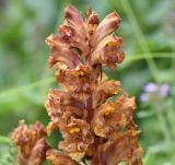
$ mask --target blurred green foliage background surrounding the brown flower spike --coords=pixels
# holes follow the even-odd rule
[[[9,135],[21,119],[47,125],[45,96],[58,85],[45,38],[57,32],[69,3],[82,14],[92,8],[101,19],[112,11],[122,19],[116,34],[124,37],[126,60],[105,71],[137,98],[144,165],[175,165],[175,0],[0,0],[0,134]],[[168,84],[168,95],[140,102],[149,82]],[[3,137],[0,160],[10,158]],[[60,135],[50,139],[56,145]]]

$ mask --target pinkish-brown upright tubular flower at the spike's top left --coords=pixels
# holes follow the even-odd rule
[[[65,24],[59,27],[61,38],[71,47],[78,48],[82,56],[86,56],[90,48],[83,19],[73,5],[65,9]]]

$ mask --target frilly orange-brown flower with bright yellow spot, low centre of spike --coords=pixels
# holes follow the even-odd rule
[[[70,123],[62,126],[60,131],[65,141],[59,143],[59,149],[69,153],[74,160],[81,160],[94,141],[90,125],[82,119],[71,118]]]

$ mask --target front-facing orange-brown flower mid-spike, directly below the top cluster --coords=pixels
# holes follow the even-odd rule
[[[57,74],[57,81],[61,86],[77,99],[85,101],[90,97],[96,74],[91,74],[91,69],[86,66],[78,66],[75,69],[67,69]]]

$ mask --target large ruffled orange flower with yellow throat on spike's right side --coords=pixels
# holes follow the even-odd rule
[[[106,139],[116,139],[124,128],[136,127],[132,120],[135,99],[126,94],[117,98],[116,103],[106,102],[95,110],[92,128],[96,135]]]

